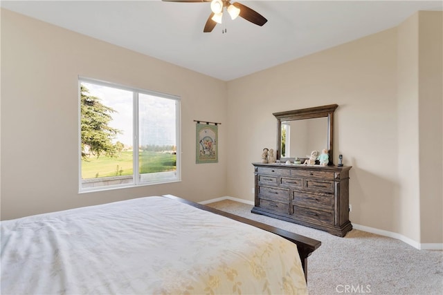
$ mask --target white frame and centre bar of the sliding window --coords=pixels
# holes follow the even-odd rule
[[[125,91],[131,91],[133,93],[133,141],[132,144],[134,146],[133,149],[133,179],[132,183],[125,183],[125,184],[114,184],[114,185],[107,185],[102,187],[88,187],[83,188],[82,187],[82,126],[81,126],[81,120],[82,120],[82,113],[81,113],[81,87],[80,85],[84,83],[89,84],[96,84],[99,86],[107,86],[112,88],[118,88]],[[173,99],[176,104],[176,113],[175,113],[175,126],[176,126],[176,172],[175,177],[171,179],[159,179],[159,180],[152,180],[152,181],[141,181],[140,173],[138,171],[139,167],[139,153],[138,153],[138,147],[139,146],[139,117],[138,117],[138,94],[145,94],[145,95],[154,95],[158,97],[163,97],[167,99]],[[153,185],[153,184],[163,184],[163,183],[172,183],[172,182],[181,182],[181,97],[178,95],[170,95],[166,93],[159,93],[156,91],[147,91],[145,89],[141,88],[134,88],[130,86],[123,86],[120,84],[112,83],[112,82],[105,82],[98,79],[91,79],[88,77],[78,77],[78,159],[79,159],[79,166],[78,166],[78,192],[79,193],[88,193],[91,191],[107,191],[111,189],[123,189],[128,187],[140,187],[140,186],[146,186],[146,185]]]

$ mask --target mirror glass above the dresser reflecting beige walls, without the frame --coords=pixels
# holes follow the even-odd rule
[[[307,158],[311,151],[327,149],[327,117],[282,121],[281,156]]]

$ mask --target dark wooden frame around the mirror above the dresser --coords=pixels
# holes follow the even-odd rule
[[[299,110],[284,111],[273,113],[277,118],[277,151],[276,158],[280,160],[280,149],[282,146],[282,122],[314,119],[318,117],[327,117],[327,150],[329,151],[329,164],[334,165],[334,153],[332,151],[334,146],[334,111],[338,104],[328,104],[326,106],[315,106],[314,108],[300,108]]]

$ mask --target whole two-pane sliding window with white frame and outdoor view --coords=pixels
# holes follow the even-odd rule
[[[87,78],[79,97],[80,191],[181,180],[179,97]]]

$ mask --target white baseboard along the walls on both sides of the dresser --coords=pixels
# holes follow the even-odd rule
[[[199,203],[200,204],[210,204],[210,203],[219,202],[222,200],[232,200],[232,201],[241,202],[244,204],[254,205],[253,201],[243,200],[243,199],[239,199],[239,198],[233,198],[230,196],[215,198],[212,200],[207,200],[207,201],[203,201],[203,202],[199,202]],[[358,229],[359,231],[366,231],[368,233],[377,234],[380,236],[387,236],[389,238],[395,238],[397,240],[401,240],[402,242],[406,242],[406,244],[408,244],[416,249],[419,249],[419,250],[443,250],[443,244],[419,243],[419,242],[416,242],[415,240],[412,240],[412,239],[410,239],[406,236],[403,236],[401,234],[394,233],[392,231],[385,231],[383,229],[374,229],[374,227],[366,227],[365,225],[356,225],[354,223],[352,223],[352,228]]]

